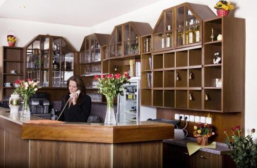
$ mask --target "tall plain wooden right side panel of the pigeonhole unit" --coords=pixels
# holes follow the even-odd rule
[[[223,22],[223,55],[226,55],[223,57],[223,111],[242,112],[245,104],[245,19],[223,17]]]

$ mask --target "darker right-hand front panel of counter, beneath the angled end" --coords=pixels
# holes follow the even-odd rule
[[[162,167],[162,141],[114,144],[114,167]]]

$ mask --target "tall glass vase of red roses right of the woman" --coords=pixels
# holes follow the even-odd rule
[[[115,124],[115,115],[114,115],[114,98],[120,94],[123,96],[123,91],[121,87],[125,83],[130,83],[128,79],[130,79],[130,75],[128,72],[124,72],[121,74],[108,74],[108,75],[95,75],[95,79],[99,81],[97,87],[99,88],[99,93],[105,95],[107,99],[107,111],[105,115],[106,124]]]

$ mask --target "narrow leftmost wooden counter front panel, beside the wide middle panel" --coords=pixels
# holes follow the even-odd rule
[[[29,166],[29,140],[21,139],[6,131],[5,167]]]

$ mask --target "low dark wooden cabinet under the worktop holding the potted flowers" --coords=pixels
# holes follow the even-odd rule
[[[228,155],[197,151],[189,156],[186,147],[163,143],[163,167],[235,167],[235,163]]]

